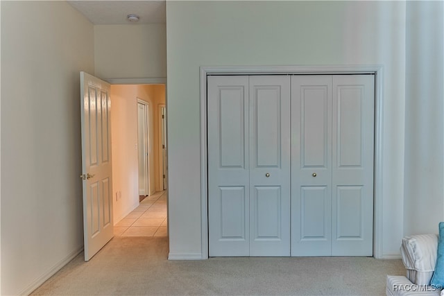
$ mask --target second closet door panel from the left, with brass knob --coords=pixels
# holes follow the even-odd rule
[[[250,76],[250,256],[290,255],[290,78]]]

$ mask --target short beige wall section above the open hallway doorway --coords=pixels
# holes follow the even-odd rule
[[[165,24],[94,26],[96,76],[167,77]]]

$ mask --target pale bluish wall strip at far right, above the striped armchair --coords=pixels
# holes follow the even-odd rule
[[[404,234],[444,220],[443,1],[407,1]]]

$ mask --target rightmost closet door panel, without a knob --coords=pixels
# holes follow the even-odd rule
[[[332,255],[373,255],[373,75],[333,76]]]

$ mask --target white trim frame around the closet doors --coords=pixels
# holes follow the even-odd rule
[[[373,256],[382,258],[382,164],[384,112],[382,89],[384,67],[381,64],[353,66],[258,66],[258,67],[200,67],[200,198],[202,259],[208,259],[208,151],[207,151],[207,76],[212,75],[375,75],[375,158],[373,183],[374,220]]]

